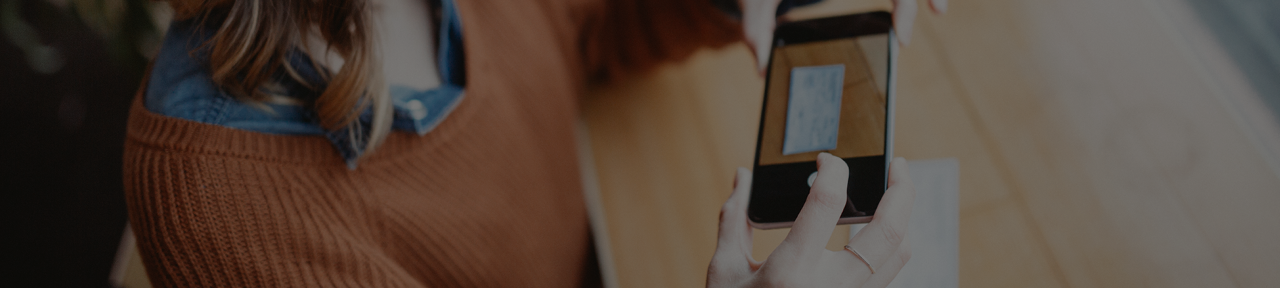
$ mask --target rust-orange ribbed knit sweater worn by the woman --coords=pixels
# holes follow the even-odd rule
[[[323,137],[166,118],[140,93],[124,186],[152,284],[579,285],[589,230],[572,127],[586,79],[652,65],[617,41],[666,35],[640,49],[669,60],[737,38],[717,22],[691,29],[714,37],[657,33],[643,17],[655,3],[460,1],[466,99],[426,136],[392,133],[356,170]],[[699,9],[684,17],[710,12]]]

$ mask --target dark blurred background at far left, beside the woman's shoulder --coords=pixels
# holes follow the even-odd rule
[[[138,8],[118,10],[125,18],[104,33],[68,6],[0,3],[0,285],[109,287],[127,218],[124,123],[146,67],[136,40],[155,33]],[[59,56],[32,64],[33,45]]]

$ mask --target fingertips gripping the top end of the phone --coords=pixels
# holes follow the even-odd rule
[[[742,8],[742,32],[746,42],[755,52],[755,64],[760,73],[769,63],[769,41],[773,40],[773,27],[777,26],[778,3],[782,0],[739,0]],[[827,0],[835,1],[835,0]],[[893,1],[893,27],[899,45],[911,41],[911,26],[915,23],[915,0]],[[947,10],[947,0],[928,0],[934,14]]]

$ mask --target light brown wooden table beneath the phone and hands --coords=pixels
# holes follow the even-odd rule
[[[959,159],[963,287],[1280,285],[1280,122],[1185,3],[923,5],[895,154]],[[731,46],[593,87],[584,168],[611,284],[704,285],[753,160],[753,65]],[[785,234],[756,230],[756,259]]]

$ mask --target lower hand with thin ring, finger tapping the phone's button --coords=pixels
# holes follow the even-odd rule
[[[899,157],[890,165],[890,187],[876,216],[849,241],[860,257],[849,250],[826,248],[845,207],[847,183],[849,166],[844,160],[831,154],[818,155],[818,177],[791,232],[764,262],[759,262],[751,257],[751,227],[746,219],[751,173],[739,168],[733,195],[721,210],[719,241],[707,269],[707,287],[888,285],[911,257],[906,224],[915,188],[906,160]]]

